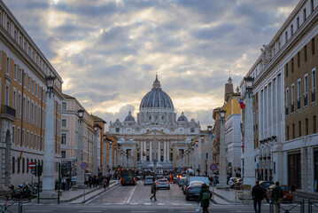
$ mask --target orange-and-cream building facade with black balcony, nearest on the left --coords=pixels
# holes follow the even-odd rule
[[[31,182],[29,162],[43,164],[45,77],[56,77],[55,168],[60,162],[62,79],[12,12],[0,1],[0,190]]]

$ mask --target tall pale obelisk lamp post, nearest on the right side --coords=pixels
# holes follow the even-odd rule
[[[246,92],[245,115],[244,115],[244,185],[255,184],[255,163],[254,163],[254,134],[252,119],[252,83],[251,76],[244,78]]]

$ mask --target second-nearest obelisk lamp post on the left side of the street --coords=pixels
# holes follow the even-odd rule
[[[78,129],[78,139],[77,139],[77,173],[76,173],[76,185],[79,188],[84,188],[84,170],[81,169],[81,162],[83,162],[83,144],[82,144],[82,119],[84,117],[84,110],[77,110],[79,117],[79,129]]]

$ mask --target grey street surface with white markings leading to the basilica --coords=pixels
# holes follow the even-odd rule
[[[160,189],[157,193],[158,201],[150,201],[151,185],[117,185],[105,193],[99,194],[95,199],[86,201],[84,204],[62,203],[60,205],[31,204],[23,206],[23,212],[58,212],[58,213],[78,213],[78,212],[131,212],[131,213],[151,213],[151,212],[196,212],[197,201],[185,201],[182,189],[178,185],[171,185],[171,189]],[[283,204],[283,208],[295,206],[295,204]],[[210,203],[211,212],[253,212],[252,205],[242,204],[214,204]],[[307,207],[306,207],[307,209]],[[12,207],[12,212],[18,212],[17,206]],[[202,209],[201,209],[202,212]],[[269,204],[262,204],[262,212],[269,212]],[[290,212],[300,212],[299,207]]]

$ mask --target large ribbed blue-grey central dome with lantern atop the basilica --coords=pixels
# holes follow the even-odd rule
[[[166,92],[162,91],[156,75],[156,80],[152,84],[152,89],[142,99],[140,108],[171,108],[174,109],[172,100]]]

